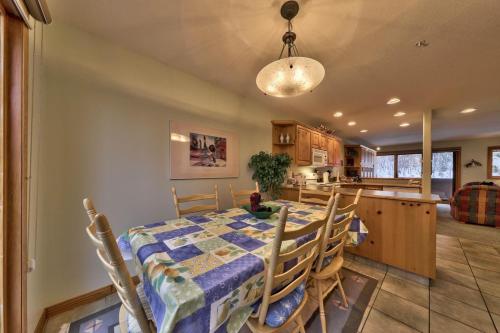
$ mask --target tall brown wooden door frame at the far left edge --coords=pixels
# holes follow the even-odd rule
[[[27,332],[28,29],[3,11],[3,323]]]

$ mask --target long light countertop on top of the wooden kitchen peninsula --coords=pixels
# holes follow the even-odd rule
[[[339,183],[336,183],[337,185]],[[351,184],[351,183],[350,183]],[[283,188],[291,189],[291,190],[299,190],[299,186],[297,185],[283,185]],[[305,187],[310,190],[320,190],[329,192],[332,190],[332,185],[323,185],[323,184],[308,184]],[[338,187],[335,189],[336,193],[344,194],[344,195],[355,195],[357,190],[350,188],[341,188]],[[415,201],[415,202],[426,202],[426,203],[437,203],[441,201],[441,198],[436,194],[424,195],[421,193],[413,193],[413,192],[398,192],[398,191],[377,191],[377,190],[363,190],[361,195],[362,197],[368,198],[382,198],[382,199],[392,199],[392,200],[407,200],[407,201]]]

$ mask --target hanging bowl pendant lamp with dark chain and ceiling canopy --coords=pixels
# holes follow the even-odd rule
[[[287,1],[281,6],[281,16],[288,21],[288,31],[283,35],[283,47],[278,60],[273,61],[257,74],[257,87],[266,95],[275,97],[299,96],[311,92],[321,83],[325,68],[320,62],[299,56],[292,31],[292,19],[299,12],[297,1]],[[283,52],[287,56],[283,57]]]

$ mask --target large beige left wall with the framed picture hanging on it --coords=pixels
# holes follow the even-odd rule
[[[85,235],[84,197],[116,234],[173,218],[174,184],[199,193],[217,183],[228,207],[228,184],[251,187],[250,155],[271,149],[270,120],[289,118],[64,25],[43,27],[42,46],[33,81],[30,331],[44,307],[109,284]],[[236,132],[240,177],[171,181],[170,120]]]

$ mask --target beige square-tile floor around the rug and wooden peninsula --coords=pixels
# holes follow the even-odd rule
[[[447,205],[438,207],[437,278],[413,274],[361,257],[347,256],[349,269],[376,278],[358,332],[500,331],[500,230],[459,224]],[[116,299],[109,298],[52,318],[45,332],[77,320]]]

